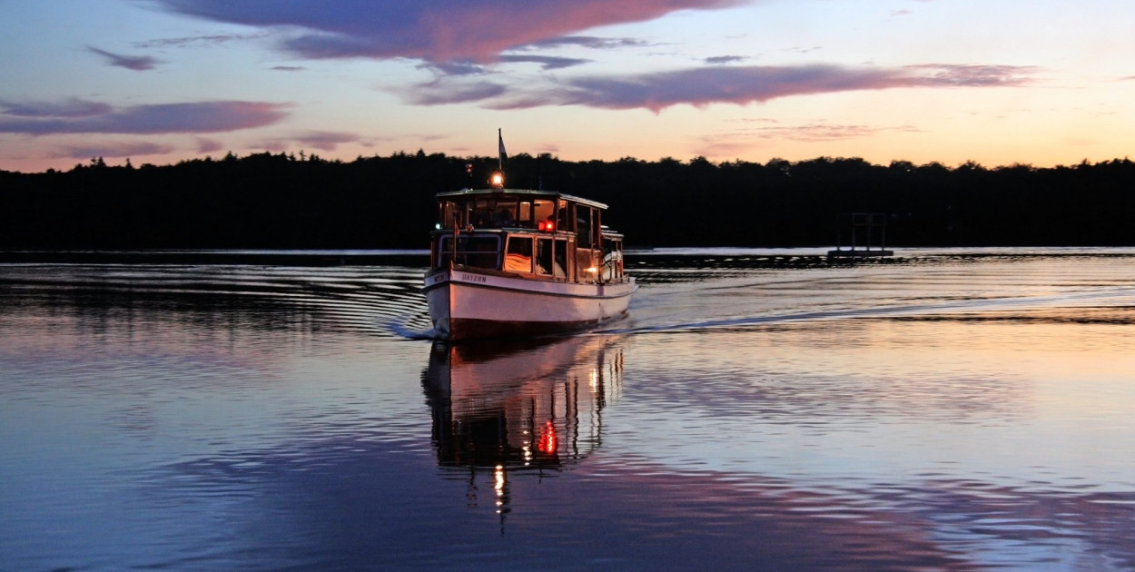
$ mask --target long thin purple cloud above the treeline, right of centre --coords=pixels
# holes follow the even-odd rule
[[[565,79],[555,89],[487,93],[494,109],[578,104],[606,109],[646,108],[658,112],[688,103],[747,104],[790,95],[893,87],[990,87],[1022,85],[1034,68],[1015,66],[926,65],[906,68],[841,66],[709,67],[637,76],[590,76]],[[465,98],[463,101],[471,101]]]

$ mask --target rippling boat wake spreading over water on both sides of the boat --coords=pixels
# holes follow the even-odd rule
[[[968,264],[646,270],[629,316],[592,331],[649,335],[867,319],[1135,323],[1135,271],[1117,277],[1110,263],[1095,271],[1060,260],[1002,266],[981,278]],[[154,306],[271,328],[293,322],[432,339],[423,271],[393,264],[6,264],[0,314],[28,305],[69,304],[85,313]]]

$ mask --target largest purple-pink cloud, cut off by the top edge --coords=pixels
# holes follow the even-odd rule
[[[510,48],[581,30],[753,0],[340,0],[334,7],[322,0],[155,1],[170,11],[216,22],[300,30],[284,48],[306,58],[493,61]]]

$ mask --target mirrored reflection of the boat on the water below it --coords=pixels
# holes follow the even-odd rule
[[[510,472],[545,474],[586,459],[603,441],[603,409],[622,392],[616,340],[435,343],[422,384],[438,464],[468,469],[470,495],[489,474],[503,515]]]

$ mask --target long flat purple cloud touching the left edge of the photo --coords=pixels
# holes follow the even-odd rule
[[[52,104],[39,104],[50,110]],[[64,109],[67,104],[59,106]],[[0,117],[0,133],[48,135],[58,133],[219,133],[271,125],[287,116],[288,103],[258,101],[203,101],[196,103],[165,103],[134,106],[115,110],[109,106],[102,112],[83,116],[28,115]],[[18,108],[27,111],[36,104]]]

